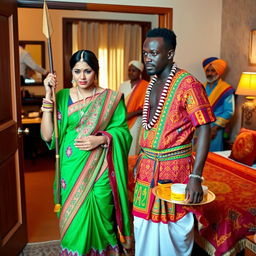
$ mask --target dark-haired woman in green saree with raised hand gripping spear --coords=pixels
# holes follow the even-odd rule
[[[56,95],[60,148],[60,255],[129,254],[127,157],[131,135],[122,94],[98,87],[98,60],[80,50],[70,59],[73,87]],[[44,80],[41,134],[55,147],[52,90]]]

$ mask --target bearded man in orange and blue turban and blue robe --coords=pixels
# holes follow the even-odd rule
[[[204,86],[216,116],[216,121],[212,123],[210,151],[221,151],[223,150],[224,128],[234,114],[234,89],[221,79],[227,68],[224,60],[210,57],[202,64],[207,80]]]

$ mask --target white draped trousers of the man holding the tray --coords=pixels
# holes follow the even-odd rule
[[[164,224],[134,217],[135,256],[189,256],[194,243],[194,216]]]

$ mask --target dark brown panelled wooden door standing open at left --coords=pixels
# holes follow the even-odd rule
[[[16,0],[0,4],[0,255],[27,242]]]

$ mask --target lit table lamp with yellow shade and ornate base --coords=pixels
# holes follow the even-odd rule
[[[245,122],[251,125],[253,112],[256,112],[256,72],[243,72],[236,94],[246,96],[246,101],[242,105],[242,125]]]

